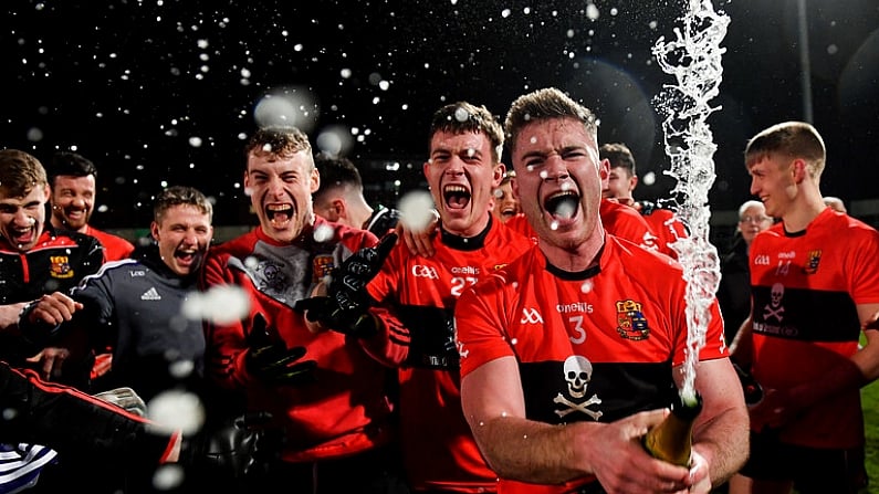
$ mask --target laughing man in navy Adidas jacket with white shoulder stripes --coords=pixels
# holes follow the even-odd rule
[[[181,378],[201,378],[201,320],[186,319],[182,304],[198,291],[197,274],[213,237],[212,214],[213,207],[200,191],[164,190],[154,206],[154,245],[86,276],[70,297],[44,297],[32,308],[60,314],[66,320],[61,332],[69,343],[84,339],[93,349],[112,348],[111,370],[93,383],[92,391],[129,387],[148,401]],[[171,371],[180,368],[191,371],[186,376]],[[64,369],[46,366],[44,371]]]

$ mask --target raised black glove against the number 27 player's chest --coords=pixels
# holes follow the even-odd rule
[[[321,322],[346,335],[362,337],[374,334],[377,323],[367,312],[374,301],[365,287],[381,270],[396,243],[397,234],[390,232],[378,245],[358,250],[335,270],[327,296],[296,301],[293,308],[305,312],[308,320]]]

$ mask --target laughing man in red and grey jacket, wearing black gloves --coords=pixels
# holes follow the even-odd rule
[[[258,129],[245,159],[244,188],[260,224],[211,250],[202,287],[234,285],[250,302],[242,319],[206,328],[213,380],[243,392],[250,410],[271,412],[273,424],[286,432],[266,484],[250,492],[276,485],[322,493],[397,492],[388,452],[394,440],[390,370],[355,338],[312,334],[293,309],[352,252],[378,239],[314,214],[320,175],[311,143],[299,128]],[[252,346],[254,339],[265,345]],[[313,382],[287,376],[287,364],[302,357],[296,348],[315,364]]]

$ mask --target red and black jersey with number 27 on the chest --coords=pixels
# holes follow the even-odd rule
[[[530,239],[492,218],[475,238],[441,231],[430,257],[412,255],[398,242],[367,285],[369,295],[402,322],[389,322],[386,312],[374,309],[385,324],[383,333],[370,338],[370,354],[402,366],[402,453],[416,490],[496,488],[498,475],[482,459],[461,410],[452,312],[461,293],[531,245]]]

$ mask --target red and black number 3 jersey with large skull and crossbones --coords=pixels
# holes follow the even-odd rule
[[[533,248],[461,296],[461,375],[515,357],[527,418],[552,424],[667,407],[677,392],[672,367],[683,364],[688,345],[686,293],[680,264],[611,234],[598,265],[580,273],[548,265]],[[716,301],[708,308],[701,360],[728,356]],[[502,479],[499,492],[562,493],[588,481]]]

